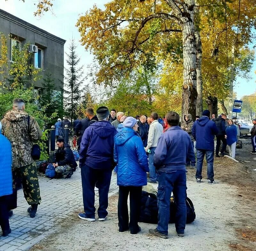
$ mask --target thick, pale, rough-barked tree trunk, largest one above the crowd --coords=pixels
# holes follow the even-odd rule
[[[188,1],[191,6],[195,1]],[[182,114],[191,114],[193,119],[196,117],[196,38],[194,27],[194,8],[189,11],[185,8],[184,12],[190,18],[182,24],[182,44],[183,44],[183,91],[182,91]],[[185,121],[181,119],[181,125]]]

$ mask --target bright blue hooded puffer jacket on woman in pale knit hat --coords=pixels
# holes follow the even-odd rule
[[[131,128],[115,136],[114,161],[117,163],[117,185],[147,185],[148,158],[140,136]]]

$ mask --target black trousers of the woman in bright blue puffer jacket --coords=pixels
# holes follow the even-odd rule
[[[142,186],[119,186],[118,197],[118,226],[119,231],[123,232],[130,228],[131,234],[139,231],[140,219],[140,200]],[[128,194],[130,192],[130,223],[128,214]]]

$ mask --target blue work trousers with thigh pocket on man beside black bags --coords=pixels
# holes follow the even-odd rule
[[[177,233],[184,233],[187,217],[187,185],[186,170],[173,170],[158,172],[158,224],[157,231],[168,234],[168,223],[170,219],[170,198],[173,192],[177,203],[175,228]]]

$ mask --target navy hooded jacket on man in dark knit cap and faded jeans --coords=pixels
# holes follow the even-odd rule
[[[214,150],[214,135],[218,133],[216,124],[203,116],[194,122],[192,136],[196,140],[196,149]]]

